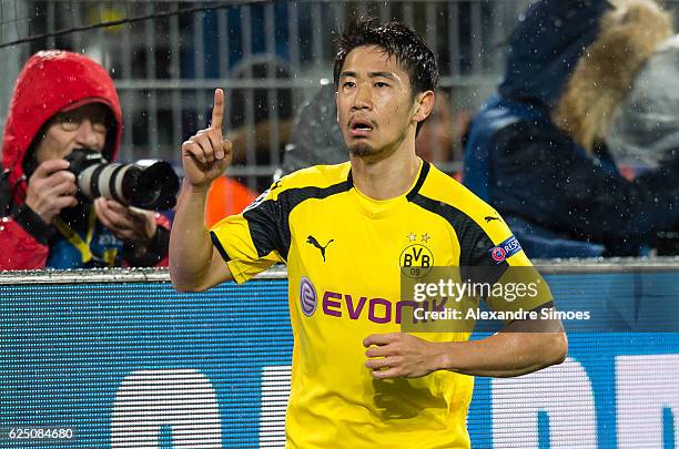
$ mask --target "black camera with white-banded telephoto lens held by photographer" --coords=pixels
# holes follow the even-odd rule
[[[89,200],[113,198],[126,206],[162,211],[174,207],[179,177],[164,161],[146,164],[118,164],[91,149],[73,150],[67,156],[78,188]]]

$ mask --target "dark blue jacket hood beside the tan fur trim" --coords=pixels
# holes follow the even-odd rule
[[[538,0],[509,38],[507,68],[499,93],[549,109],[585,49],[595,41],[607,0]]]

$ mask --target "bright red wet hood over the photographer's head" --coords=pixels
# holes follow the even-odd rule
[[[14,85],[2,140],[2,171],[10,172],[9,184],[12,190],[18,187],[19,197],[26,190],[23,159],[44,123],[64,109],[93,102],[111,110],[114,123],[107,135],[103,154],[112,161],[122,135],[122,113],[107,70],[69,51],[41,51],[27,61]]]

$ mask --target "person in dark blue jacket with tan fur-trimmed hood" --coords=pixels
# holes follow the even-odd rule
[[[635,75],[672,34],[651,0],[540,0],[474,119],[464,182],[531,257],[636,256],[679,220],[679,157],[628,180],[606,145]]]

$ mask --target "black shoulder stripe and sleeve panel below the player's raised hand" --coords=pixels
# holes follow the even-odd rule
[[[351,188],[348,181],[328,187],[300,187],[290,188],[278,194],[276,201],[266,200],[254,208],[243,213],[250,227],[252,242],[257,255],[263,257],[274,249],[284,259],[290,251],[290,213],[306,200],[323,200]]]

